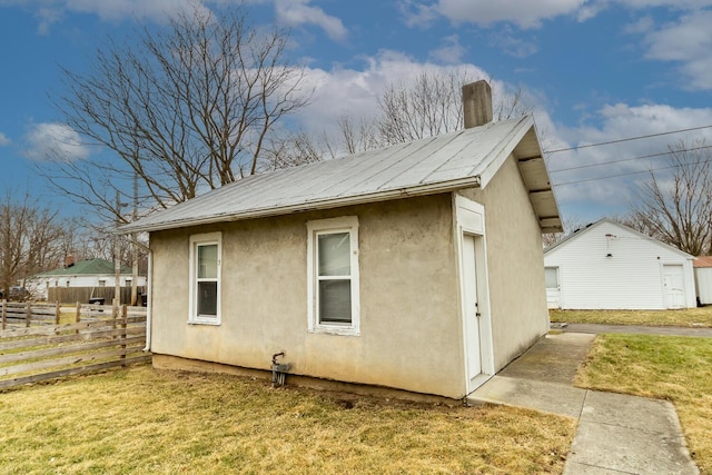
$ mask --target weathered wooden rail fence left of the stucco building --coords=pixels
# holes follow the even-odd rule
[[[29,318],[22,320],[2,303],[3,324],[6,313],[13,315],[8,320],[22,321],[8,323],[0,330],[0,389],[150,362],[150,354],[144,352],[146,308],[78,304],[72,307],[73,321],[58,324],[57,315],[65,319],[66,308],[50,316],[49,307],[26,306]]]

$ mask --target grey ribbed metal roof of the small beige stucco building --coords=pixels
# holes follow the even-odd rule
[[[121,226],[119,231],[155,231],[484,188],[511,154],[518,161],[542,231],[561,231],[558,207],[531,115],[254,175]]]

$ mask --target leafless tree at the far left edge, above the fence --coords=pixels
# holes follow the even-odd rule
[[[21,196],[20,199],[17,196]],[[11,286],[27,277],[49,270],[62,258],[63,227],[57,212],[43,208],[29,195],[8,191],[0,201],[0,288],[10,295]]]

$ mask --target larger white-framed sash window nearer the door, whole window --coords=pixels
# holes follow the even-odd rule
[[[307,222],[309,330],[358,335],[358,218]]]

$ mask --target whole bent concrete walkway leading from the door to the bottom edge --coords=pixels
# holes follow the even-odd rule
[[[573,387],[594,336],[545,336],[475,390],[468,402],[578,419],[564,466],[566,475],[699,474],[670,402]]]

